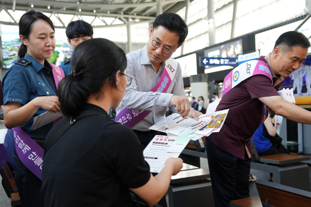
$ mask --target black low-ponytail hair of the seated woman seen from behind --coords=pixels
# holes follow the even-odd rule
[[[71,73],[59,83],[58,100],[65,116],[77,117],[86,109],[87,98],[100,92],[107,78],[116,87],[116,73],[126,69],[127,60],[115,43],[95,38],[75,48],[70,66]]]

